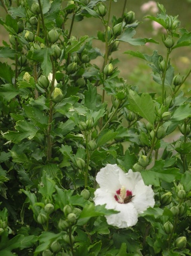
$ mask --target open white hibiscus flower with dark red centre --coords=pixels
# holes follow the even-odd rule
[[[96,181],[100,185],[95,191],[95,205],[106,204],[106,209],[119,211],[106,216],[107,223],[119,228],[135,225],[138,214],[155,205],[151,185],[144,185],[140,172],[128,173],[116,164],[107,164],[97,173]]]

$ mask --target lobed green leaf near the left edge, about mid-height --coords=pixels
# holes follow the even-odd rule
[[[3,134],[3,137],[8,141],[19,143],[25,138],[32,139],[36,135],[36,132],[38,132],[38,128],[36,126],[25,120],[17,121],[15,129],[18,132],[8,131]]]

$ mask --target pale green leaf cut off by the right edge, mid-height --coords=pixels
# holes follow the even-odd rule
[[[174,114],[172,114],[171,121],[177,122],[184,120],[187,117],[191,117],[191,108],[189,104],[184,104],[175,109]]]

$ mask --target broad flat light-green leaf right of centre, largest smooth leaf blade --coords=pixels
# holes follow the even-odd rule
[[[137,112],[138,115],[145,118],[149,123],[154,123],[155,104],[148,93],[143,93],[139,96],[137,92],[129,90],[128,100],[130,102],[130,105],[128,106],[129,109]]]

